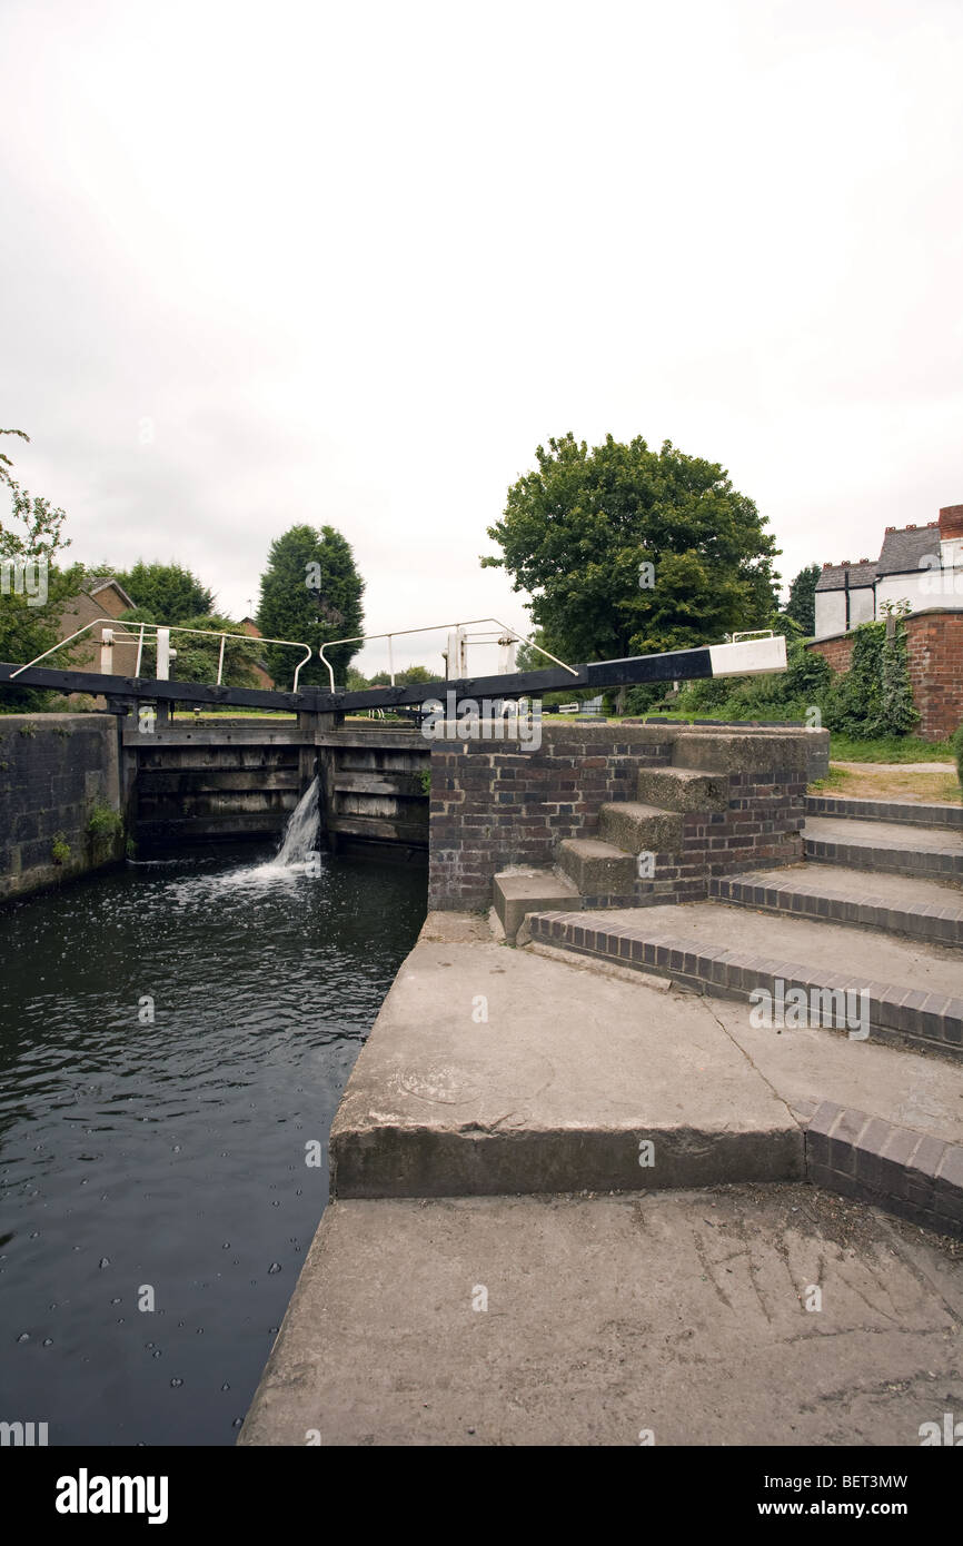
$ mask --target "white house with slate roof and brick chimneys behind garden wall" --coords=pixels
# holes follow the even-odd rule
[[[929,526],[886,527],[873,561],[824,564],[816,581],[815,638],[846,634],[884,617],[886,601],[963,609],[963,504],[940,510]]]

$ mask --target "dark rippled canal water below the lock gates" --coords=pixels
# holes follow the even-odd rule
[[[51,1444],[232,1444],[322,1217],[425,872],[269,858],[0,909],[0,1419]]]

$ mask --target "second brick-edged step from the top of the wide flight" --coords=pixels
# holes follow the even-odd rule
[[[918,875],[963,886],[963,835],[890,821],[807,816],[807,860],[861,870]]]

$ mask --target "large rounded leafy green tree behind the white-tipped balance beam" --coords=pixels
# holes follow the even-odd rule
[[[611,434],[589,451],[573,434],[538,447],[488,527],[515,591],[527,591],[547,648],[606,660],[722,642],[768,626],[774,540],[723,467]]]

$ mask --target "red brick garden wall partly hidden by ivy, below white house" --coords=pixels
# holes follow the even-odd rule
[[[963,611],[931,608],[903,621],[909,679],[920,710],[917,734],[946,741],[963,724]],[[836,634],[807,648],[829,660],[833,671],[849,671],[853,635]]]

